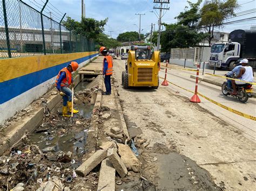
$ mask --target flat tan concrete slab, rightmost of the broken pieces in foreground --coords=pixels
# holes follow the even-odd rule
[[[117,144],[118,154],[120,155],[122,161],[124,162],[128,170],[133,172],[138,172],[140,168],[140,162],[137,159],[136,155],[132,152],[131,148],[128,145]]]

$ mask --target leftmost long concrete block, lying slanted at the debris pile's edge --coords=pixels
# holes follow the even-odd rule
[[[89,159],[83,162],[83,164],[76,169],[76,173],[79,176],[86,176],[92,171],[93,168],[95,168],[98,164],[100,164],[100,162],[104,160],[106,156],[107,156],[106,150],[96,151],[91,155]]]

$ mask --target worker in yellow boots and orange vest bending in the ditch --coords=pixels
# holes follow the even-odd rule
[[[68,111],[72,111],[72,91],[69,86],[75,86],[72,78],[72,72],[75,72],[78,68],[78,63],[72,61],[65,68],[62,68],[56,78],[55,86],[59,90],[59,94],[63,97],[62,116],[70,117]],[[73,114],[77,114],[79,111],[73,109]]]

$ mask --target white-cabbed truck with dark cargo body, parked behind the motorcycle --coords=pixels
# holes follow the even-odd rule
[[[229,68],[240,58],[248,59],[249,65],[256,67],[256,30],[234,30],[228,36],[228,42],[211,46],[209,65],[216,68]]]

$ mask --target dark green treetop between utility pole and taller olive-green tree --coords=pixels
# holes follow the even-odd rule
[[[202,1],[203,0],[198,0],[197,3],[187,1],[190,9],[188,9],[188,6],[185,6],[185,11],[180,12],[179,15],[175,17],[178,20],[178,24],[188,26],[190,28],[196,27],[200,18],[198,10]]]

